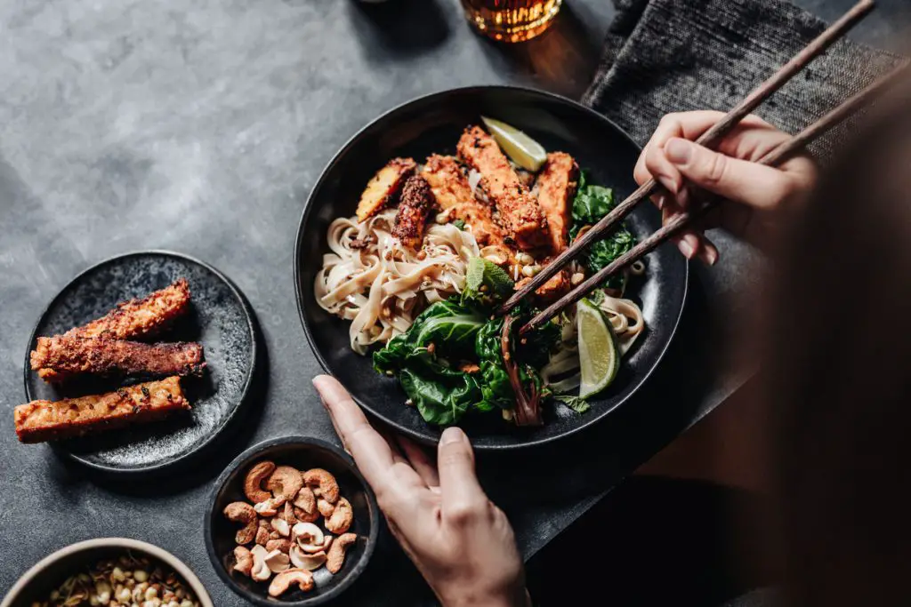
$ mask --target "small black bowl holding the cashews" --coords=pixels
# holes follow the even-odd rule
[[[357,533],[358,541],[348,549],[342,571],[333,575],[325,567],[313,572],[315,587],[310,592],[294,590],[280,597],[269,596],[269,582],[255,582],[231,571],[234,563],[235,523],[225,519],[225,506],[232,501],[248,501],[243,494],[243,480],[251,466],[261,460],[288,465],[298,470],[323,468],[329,470],[339,483],[339,493],[351,502],[354,521],[349,531]],[[265,440],[245,450],[230,462],[215,482],[206,514],[206,550],[215,571],[229,588],[246,601],[257,605],[322,605],[332,601],[350,587],[370,561],[380,527],[380,509],[374,492],[363,480],[353,460],[334,445],[303,436],[283,436]]]

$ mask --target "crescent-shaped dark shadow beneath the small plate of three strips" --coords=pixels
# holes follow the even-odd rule
[[[160,497],[188,491],[215,479],[231,460],[250,446],[251,439],[260,425],[262,411],[265,410],[256,404],[268,398],[269,349],[261,329],[257,328],[256,331],[259,350],[250,390],[237,415],[220,431],[216,440],[187,460],[162,470],[137,475],[114,475],[91,470],[55,450],[57,459],[67,470],[67,482],[85,479],[107,491],[122,495]]]

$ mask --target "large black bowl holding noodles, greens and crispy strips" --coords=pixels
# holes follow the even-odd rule
[[[490,116],[517,126],[548,150],[563,150],[589,170],[589,181],[615,189],[619,198],[635,189],[632,170],[640,148],[618,126],[575,101],[541,91],[507,87],[459,88],[421,97],[380,116],[355,135],[333,158],[313,187],[303,210],[294,255],[297,304],[304,331],[322,367],[351,390],[354,399],[398,430],[435,442],[440,430],[404,405],[395,379],[377,374],[369,357],[348,345],[349,322],[331,316],[313,298],[313,281],[328,251],[326,229],[333,218],[352,216],[364,185],[392,157],[423,160],[432,152],[455,153],[466,125]],[[660,228],[660,212],[640,205],[627,219],[638,237]],[[614,383],[588,413],[563,405],[548,408],[545,425],[515,428],[499,416],[466,417],[462,426],[477,449],[508,449],[565,437],[608,415],[640,388],[658,366],[677,329],[686,298],[688,264],[665,245],[646,258],[646,275],[628,289],[639,300],[647,332],[623,360]],[[484,419],[486,417],[486,419]],[[496,420],[493,418],[497,418]]]

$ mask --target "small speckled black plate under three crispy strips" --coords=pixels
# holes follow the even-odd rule
[[[253,312],[217,269],[167,251],[128,253],[88,268],[61,290],[38,319],[26,350],[26,400],[58,400],[116,388],[97,380],[56,388],[39,379],[29,351],[39,336],[56,335],[97,319],[125,299],[144,297],[187,278],[190,312],[163,333],[164,341],[199,341],[207,362],[201,378],[181,385],[192,410],[166,420],[52,443],[56,450],[105,472],[159,470],[189,458],[216,440],[240,409],[256,366]]]

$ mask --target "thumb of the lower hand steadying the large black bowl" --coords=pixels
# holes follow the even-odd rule
[[[450,521],[464,522],[478,514],[487,502],[475,475],[471,443],[465,432],[453,426],[444,430],[438,452],[443,516]]]

